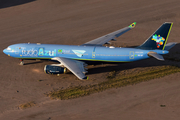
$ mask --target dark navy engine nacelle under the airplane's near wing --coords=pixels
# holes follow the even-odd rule
[[[53,65],[45,65],[44,72],[47,74],[63,74],[66,73],[66,68]]]

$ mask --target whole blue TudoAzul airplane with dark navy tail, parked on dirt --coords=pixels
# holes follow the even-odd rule
[[[131,30],[135,25],[136,22],[82,45],[20,43],[8,46],[3,52],[20,59],[21,65],[24,64],[24,59],[49,59],[59,62],[59,64],[46,65],[45,73],[62,74],[68,69],[80,80],[88,79],[85,75],[88,64],[133,62],[150,57],[164,60],[162,55],[169,53],[168,50],[176,44],[175,42],[166,44],[173,25],[171,22],[162,24],[138,47],[104,46],[104,44],[109,44],[109,41],[116,41],[115,38]]]

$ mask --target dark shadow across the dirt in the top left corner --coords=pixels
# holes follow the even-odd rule
[[[36,1],[36,0],[0,0],[0,9],[17,6],[17,5],[21,5],[21,4],[25,4],[25,3],[29,3],[33,1]]]

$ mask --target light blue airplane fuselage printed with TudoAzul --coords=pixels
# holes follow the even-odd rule
[[[53,44],[14,44],[4,49],[8,56],[19,59],[51,59],[64,57],[82,61],[132,62],[149,58],[148,52],[167,54],[165,50],[142,50],[136,48],[114,48],[101,46],[75,46]]]

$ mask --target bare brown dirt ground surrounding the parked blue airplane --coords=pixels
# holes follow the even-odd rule
[[[168,42],[180,42],[179,0],[1,0],[0,120],[179,120],[180,73],[72,100],[51,100],[44,95],[53,89],[104,81],[114,69],[161,66],[171,61],[89,66],[90,79],[80,81],[71,73],[60,77],[45,74],[44,65],[51,62],[25,61],[20,66],[18,59],[2,52],[15,43],[81,45],[134,21],[137,26],[120,36],[116,46],[140,45],[164,22],[174,22]],[[173,52],[180,52],[179,44],[170,54]],[[30,101],[36,106],[18,107]]]

